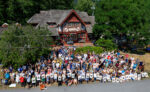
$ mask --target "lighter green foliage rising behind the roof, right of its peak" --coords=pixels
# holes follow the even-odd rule
[[[94,5],[92,0],[78,0],[78,3],[75,5],[76,10],[85,11],[89,15],[92,15],[91,7]]]

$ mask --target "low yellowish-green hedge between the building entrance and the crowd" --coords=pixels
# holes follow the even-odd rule
[[[86,47],[80,47],[77,48],[75,53],[95,53],[95,54],[101,54],[103,52],[103,48],[101,47],[94,47],[94,46],[86,46]]]

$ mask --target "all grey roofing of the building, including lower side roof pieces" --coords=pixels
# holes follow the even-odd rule
[[[36,27],[46,27],[48,22],[56,23],[56,25],[61,25],[67,17],[74,13],[78,19],[84,24],[85,22],[90,22],[93,26],[95,24],[95,17],[89,16],[87,12],[81,12],[78,10],[48,10],[48,11],[40,11],[40,13],[33,15],[27,23],[29,24],[38,24]],[[54,30],[56,29],[56,30]],[[49,30],[53,35],[57,36],[58,28],[50,28]],[[89,29],[89,28],[88,28]],[[55,32],[53,32],[55,31]],[[90,30],[92,32],[92,30]],[[89,32],[89,31],[87,31]],[[90,32],[90,33],[91,33]]]

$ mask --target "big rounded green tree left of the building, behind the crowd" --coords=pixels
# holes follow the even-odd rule
[[[15,68],[27,63],[34,63],[47,54],[52,42],[51,33],[45,28],[31,26],[10,26],[3,31],[0,40],[0,58],[4,66]]]

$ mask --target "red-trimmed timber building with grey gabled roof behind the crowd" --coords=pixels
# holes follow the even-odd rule
[[[27,23],[48,28],[51,36],[64,45],[90,43],[95,17],[78,10],[49,10],[33,15]]]

